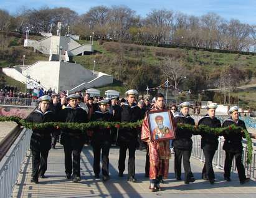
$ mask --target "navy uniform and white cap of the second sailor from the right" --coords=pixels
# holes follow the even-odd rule
[[[207,110],[217,108],[217,105],[210,104],[207,106]],[[220,121],[214,117],[213,119],[210,118],[209,115],[204,116],[201,120],[199,120],[198,125],[207,125],[211,128],[220,128],[221,123]],[[212,167],[212,159],[214,158],[214,154],[218,149],[219,144],[219,135],[212,134],[212,133],[202,133],[201,134],[201,149],[204,152],[205,163],[204,168],[202,169],[202,179],[209,180],[211,184],[214,184],[214,170]]]

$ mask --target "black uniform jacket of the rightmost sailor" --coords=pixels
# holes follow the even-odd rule
[[[244,121],[238,120],[235,122],[232,120],[232,118],[229,118],[224,121],[223,127],[227,127],[229,125],[236,125],[244,128],[246,130],[246,126]],[[244,133],[241,133],[241,130],[238,131],[230,131],[229,134],[223,134],[225,141],[223,144],[223,149],[225,151],[234,152],[234,153],[240,153],[242,152],[243,146],[242,146],[242,139],[245,138]]]

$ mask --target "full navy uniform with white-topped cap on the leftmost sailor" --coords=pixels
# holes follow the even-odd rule
[[[38,99],[39,103],[48,101],[50,97],[44,95]],[[54,113],[49,109],[45,112],[37,109],[27,116],[26,121],[32,123],[47,123],[55,121]],[[47,158],[50,150],[51,136],[50,131],[52,128],[45,128],[42,130],[32,130],[30,149],[32,152],[32,179],[31,182],[38,182],[38,177],[44,178],[45,171],[47,170]]]

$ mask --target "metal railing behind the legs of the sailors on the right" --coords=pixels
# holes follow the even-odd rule
[[[192,136],[193,146],[192,146],[192,158],[199,159],[200,161],[204,162],[204,153],[201,149],[201,136],[196,135]],[[218,149],[214,155],[214,159],[212,160],[212,165],[215,166],[217,169],[224,169],[225,164],[225,151],[222,149],[222,146],[224,144],[224,137],[219,137],[219,144]],[[243,144],[243,154],[242,154],[242,163],[245,167],[245,174],[249,176],[251,179],[256,179],[256,153],[253,151],[252,154],[252,163],[247,164],[247,144]],[[233,159],[232,163],[232,172],[237,172],[236,166],[235,166],[235,160]]]

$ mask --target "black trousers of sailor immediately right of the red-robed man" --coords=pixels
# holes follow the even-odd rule
[[[191,172],[190,156],[192,149],[178,149],[174,147],[174,170],[175,176],[181,177],[181,159],[183,159],[183,167],[185,171],[184,180],[187,181],[194,177]]]

